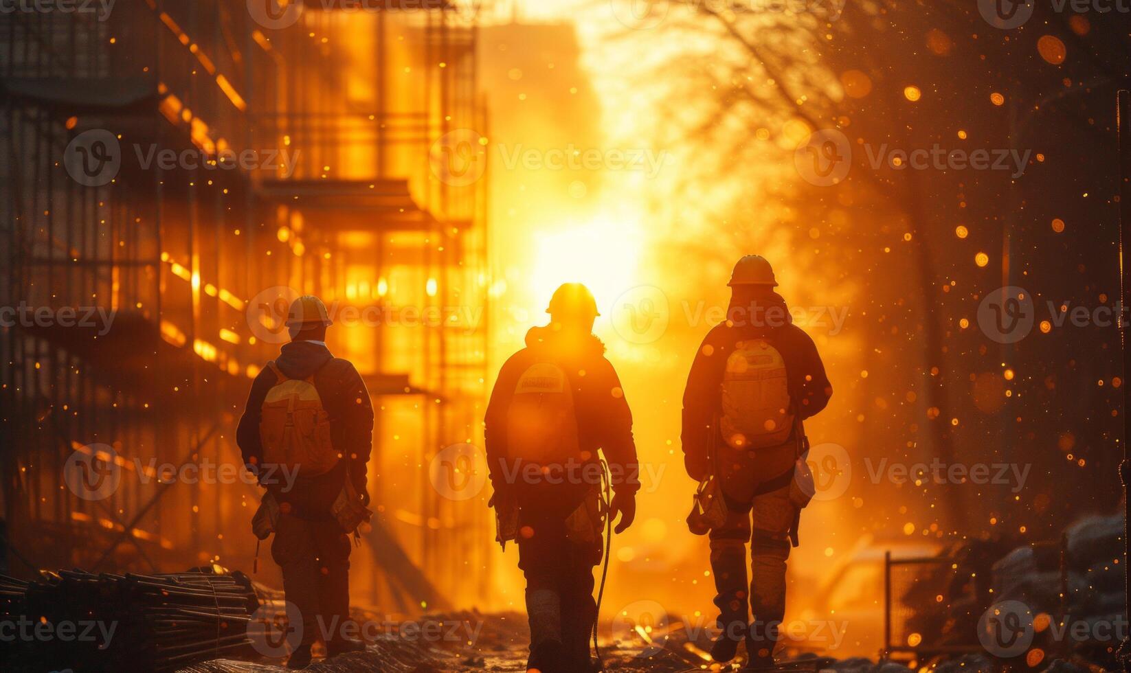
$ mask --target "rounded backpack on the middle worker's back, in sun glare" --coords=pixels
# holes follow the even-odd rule
[[[507,413],[507,451],[539,465],[580,459],[573,390],[562,368],[536,362],[518,378]]]

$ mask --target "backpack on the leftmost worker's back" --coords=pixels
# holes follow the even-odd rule
[[[278,382],[267,391],[259,420],[265,465],[295,469],[299,476],[325,474],[342,456],[330,440],[330,416],[314,388],[314,377],[288,379],[268,362]]]

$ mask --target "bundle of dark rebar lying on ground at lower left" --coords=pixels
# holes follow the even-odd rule
[[[15,636],[0,639],[0,667],[173,671],[251,655],[248,623],[258,607],[241,572],[0,576],[0,623]]]

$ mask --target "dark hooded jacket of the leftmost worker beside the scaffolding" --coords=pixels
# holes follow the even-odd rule
[[[365,490],[365,464],[373,442],[373,406],[369,390],[354,365],[334,357],[329,348],[314,342],[292,342],[283,346],[275,361],[279,370],[292,379],[314,377],[314,388],[322,399],[322,407],[330,417],[330,440],[343,459],[326,474],[300,477],[287,483],[278,471],[260,469],[262,446],[259,440],[260,409],[267,391],[278,383],[278,377],[265,366],[251,383],[251,394],[235,431],[235,441],[243,454],[248,471],[257,475],[290,510],[304,519],[333,518],[330,507],[345,485],[346,466],[357,492],[369,502]],[[286,509],[286,508],[285,508]]]

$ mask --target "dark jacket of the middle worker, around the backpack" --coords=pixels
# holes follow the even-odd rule
[[[537,362],[554,362],[569,377],[573,388],[573,407],[577,415],[578,442],[588,463],[596,463],[597,449],[603,449],[613,475],[616,492],[634,493],[640,489],[636,442],[632,439],[632,412],[629,411],[624,390],[612,363],[605,359],[605,345],[593,335],[580,344],[570,344],[551,327],[535,327],[526,334],[526,347],[511,355],[499,371],[491,402],[484,417],[484,441],[491,483],[497,493],[509,489],[507,478],[507,414],[515,386],[523,373]],[[592,474],[580,471],[579,474]],[[599,478],[597,480],[599,483]],[[558,488],[560,486],[560,488]],[[579,499],[589,483],[549,484],[541,482],[536,489],[546,497]],[[553,493],[554,495],[551,495]]]

